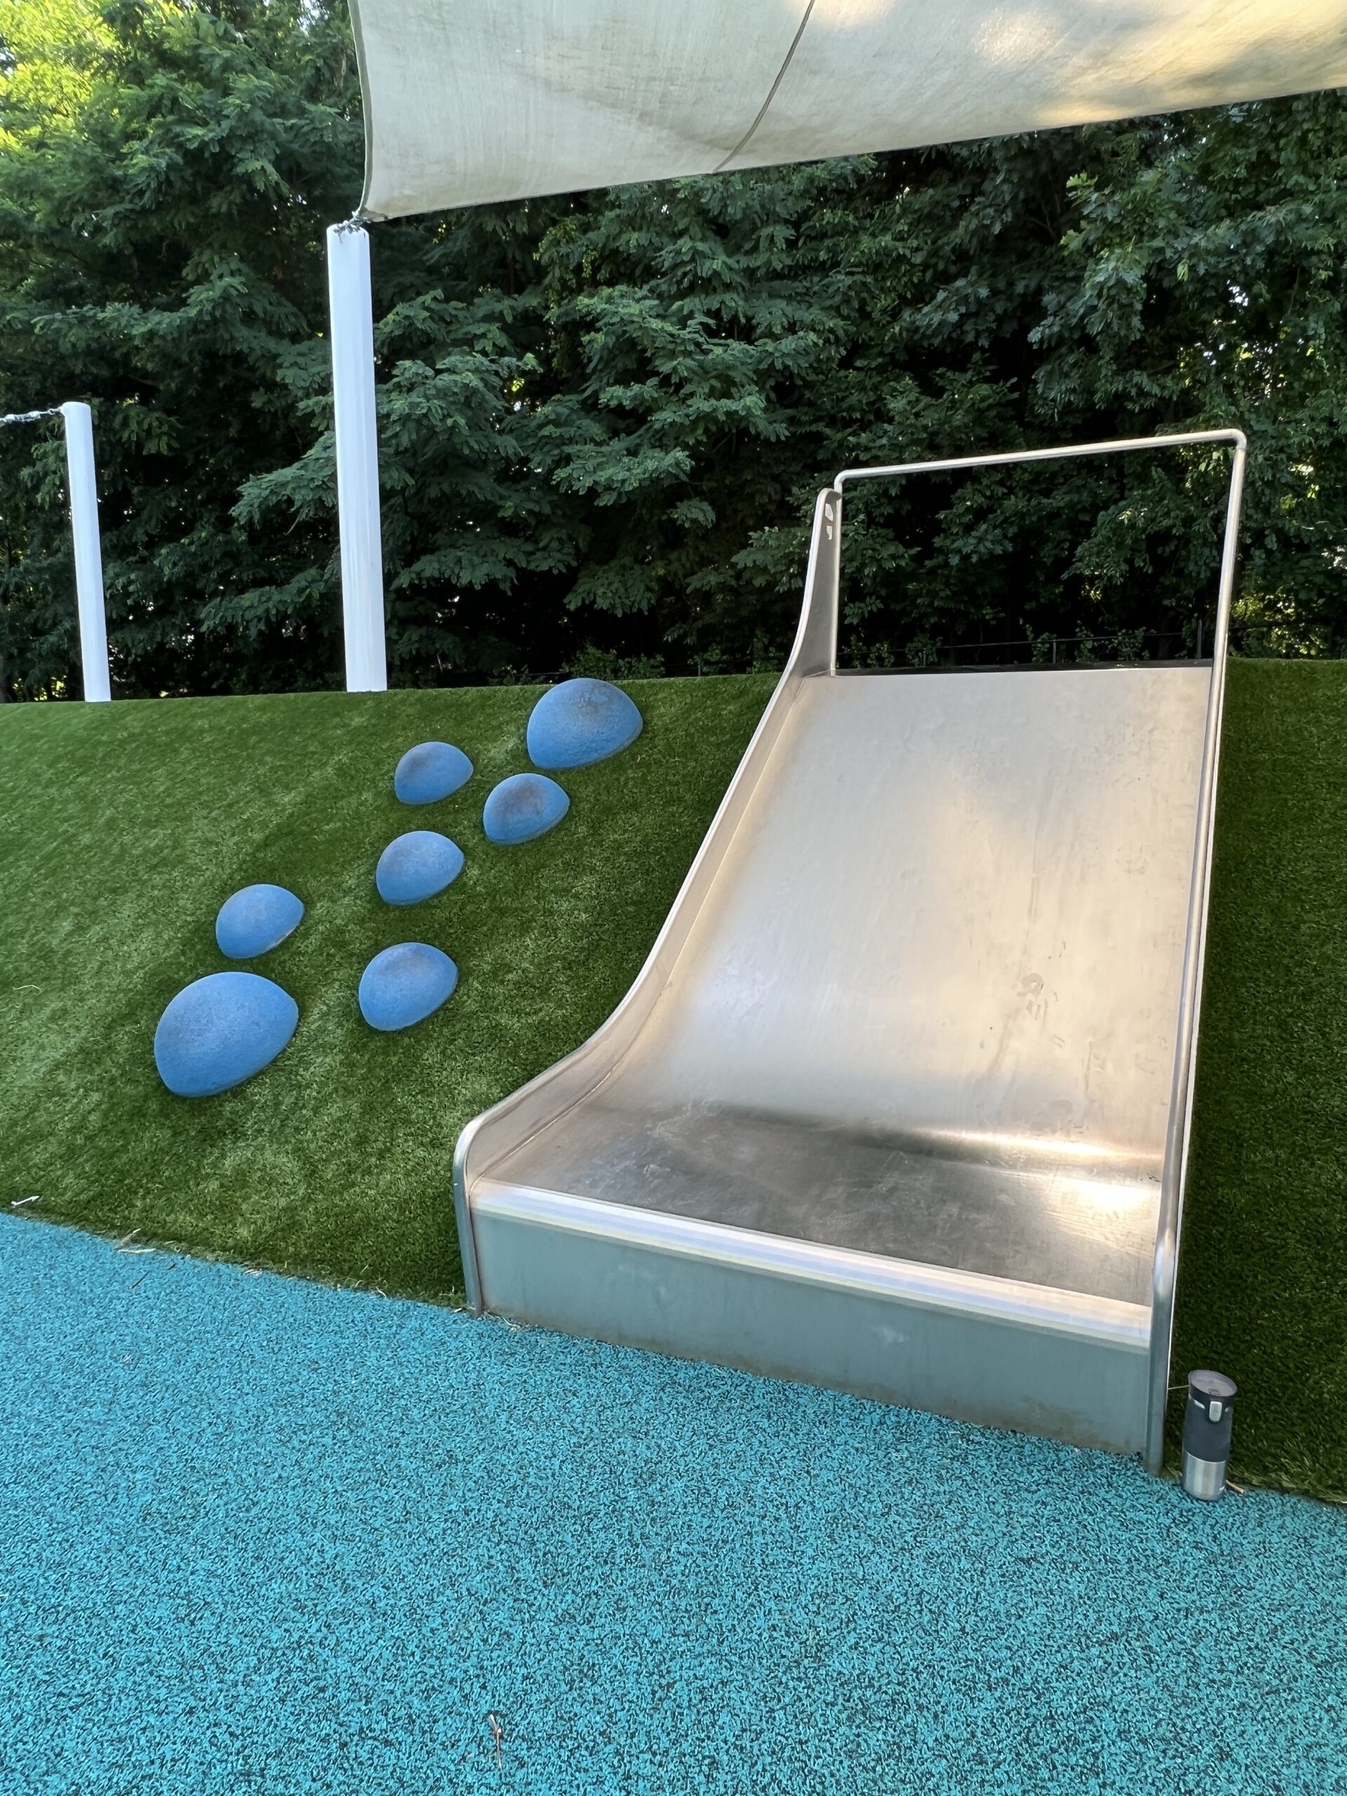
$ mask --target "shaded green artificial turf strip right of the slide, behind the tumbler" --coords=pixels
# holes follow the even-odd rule
[[[1230,665],[1173,1363],[1234,1476],[1347,1498],[1343,661]]]

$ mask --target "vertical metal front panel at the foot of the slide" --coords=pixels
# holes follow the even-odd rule
[[[483,1178],[487,1309],[959,1421],[1142,1451],[1149,1311]]]

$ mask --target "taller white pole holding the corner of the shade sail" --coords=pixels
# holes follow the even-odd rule
[[[374,411],[370,237],[356,223],[327,232],[332,408],[341,530],[347,691],[386,691],[384,568],[379,530],[379,433]]]

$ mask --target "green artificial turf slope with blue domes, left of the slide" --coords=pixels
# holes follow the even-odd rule
[[[647,727],[562,776],[571,814],[494,848],[481,805],[528,767],[537,688],[174,699],[0,709],[0,1194],[27,1214],[190,1252],[454,1299],[451,1162],[469,1117],[577,1047],[630,984],[772,690],[638,682]],[[415,742],[463,747],[440,805],[393,797]],[[438,828],[467,855],[438,898],[390,909],[381,850]],[[250,966],[300,1004],[291,1045],[208,1103],[154,1072],[160,1011],[232,964],[216,912],[253,880],[307,905]],[[356,986],[395,941],[460,966],[401,1034]]]

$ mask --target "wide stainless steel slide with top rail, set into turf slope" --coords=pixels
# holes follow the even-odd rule
[[[1211,663],[839,672],[850,481],[1230,444]],[[1245,438],[850,469],[636,984],[454,1157],[469,1300],[1158,1469]]]

